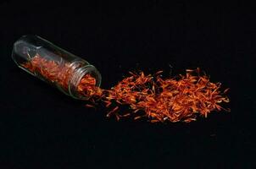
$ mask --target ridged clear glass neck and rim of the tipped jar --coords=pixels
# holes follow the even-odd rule
[[[96,86],[99,87],[101,85],[101,74],[97,71],[92,64],[87,64],[86,66],[82,66],[81,68],[75,68],[74,73],[70,79],[69,83],[69,95],[75,99],[79,100],[88,100],[89,97],[85,95],[81,95],[78,92],[77,86],[80,84],[81,79],[86,75],[90,74],[93,78],[96,79]]]

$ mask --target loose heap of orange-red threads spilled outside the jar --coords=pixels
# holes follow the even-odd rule
[[[198,71],[198,74],[193,75]],[[147,117],[155,122],[186,122],[196,120],[196,115],[207,117],[209,112],[220,111],[220,102],[229,99],[220,91],[220,83],[214,84],[206,75],[199,75],[199,70],[186,70],[186,75],[173,79],[162,79],[159,71],[152,75],[132,74],[112,90],[106,99],[120,105],[129,105],[133,112],[120,114],[117,107],[109,112],[120,117],[132,116],[134,119]],[[111,103],[111,102],[110,102]],[[226,110],[229,111],[229,110]]]

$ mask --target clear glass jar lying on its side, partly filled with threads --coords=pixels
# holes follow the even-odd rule
[[[80,87],[86,76],[93,79],[91,85],[101,84],[101,74],[92,64],[37,35],[24,35],[15,41],[12,58],[19,68],[75,99],[90,98]]]

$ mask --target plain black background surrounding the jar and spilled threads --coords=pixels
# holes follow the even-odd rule
[[[253,168],[255,18],[242,3],[1,3],[1,168]],[[231,88],[231,112],[194,123],[116,122],[103,106],[86,108],[19,69],[12,46],[27,34],[92,63],[107,89],[130,70],[168,77],[170,65],[173,75],[202,68]]]

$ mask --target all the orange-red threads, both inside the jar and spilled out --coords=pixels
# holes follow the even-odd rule
[[[54,61],[40,56],[33,57],[29,63],[23,65],[32,73],[41,74],[67,89],[74,70],[69,63],[59,65]],[[86,74],[77,86],[81,95],[90,97],[94,102],[97,98],[106,107],[113,105],[107,117],[114,116],[119,120],[123,117],[139,119],[147,118],[156,122],[192,122],[198,114],[208,117],[210,112],[225,110],[221,102],[229,102],[225,96],[228,89],[222,91],[220,83],[212,83],[205,74],[201,75],[199,68],[186,70],[185,75],[172,79],[163,79],[162,71],[156,74],[131,73],[130,77],[122,79],[110,90],[103,90],[96,86],[96,79]],[[130,111],[119,111],[120,106],[129,106]],[[86,106],[92,106],[87,104]]]

